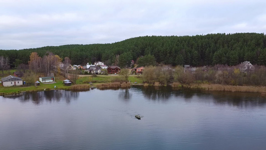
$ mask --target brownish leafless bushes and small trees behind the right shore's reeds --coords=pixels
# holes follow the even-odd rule
[[[143,80],[153,85],[166,85],[178,82],[190,85],[192,83],[212,83],[225,85],[260,85],[266,86],[266,66],[254,65],[254,69],[243,71],[241,64],[228,66],[217,64],[209,67],[198,67],[194,71],[183,66],[174,69],[165,66],[147,66],[143,71]]]

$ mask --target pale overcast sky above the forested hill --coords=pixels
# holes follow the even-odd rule
[[[266,0],[0,0],[0,49],[266,30]]]

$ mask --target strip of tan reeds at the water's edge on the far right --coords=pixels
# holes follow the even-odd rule
[[[233,86],[233,85],[222,85],[222,84],[202,84],[200,86],[201,88],[204,88],[206,90],[266,93],[265,86]]]

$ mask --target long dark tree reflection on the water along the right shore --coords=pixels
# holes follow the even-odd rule
[[[167,101],[174,97],[183,97],[186,101],[191,101],[193,96],[199,96],[202,100],[213,99],[216,104],[228,104],[233,106],[264,106],[266,98],[259,93],[250,92],[227,92],[227,91],[206,91],[201,89],[175,89],[170,86],[136,86],[142,90],[147,99]]]

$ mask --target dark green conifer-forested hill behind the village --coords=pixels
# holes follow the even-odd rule
[[[253,64],[266,64],[266,35],[264,33],[207,34],[195,36],[143,36],[108,44],[71,44],[45,46],[22,50],[0,50],[0,55],[27,63],[29,55],[36,51],[43,56],[47,51],[64,58],[72,64],[105,61],[114,63],[117,55],[126,61],[144,55],[154,55],[157,63],[193,66],[228,64],[245,60]],[[11,64],[11,63],[10,63]]]

